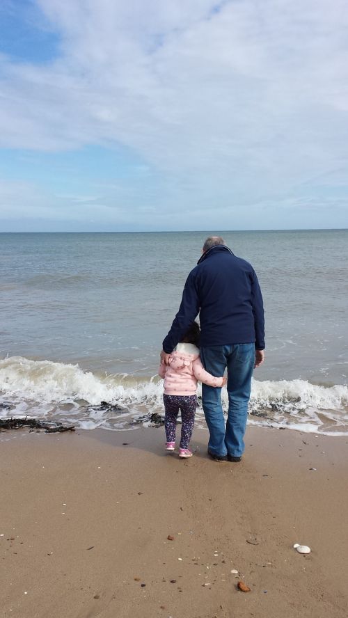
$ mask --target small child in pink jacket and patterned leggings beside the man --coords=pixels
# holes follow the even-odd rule
[[[226,378],[217,378],[205,371],[199,356],[200,330],[193,322],[182,342],[169,357],[168,365],[159,365],[159,375],[164,378],[164,427],[166,429],[166,450],[175,450],[176,420],[181,410],[181,440],[179,457],[192,457],[189,441],[193,432],[197,407],[197,381],[208,386],[225,386]]]

